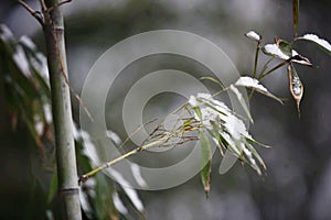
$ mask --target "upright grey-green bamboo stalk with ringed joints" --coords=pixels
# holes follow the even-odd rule
[[[65,78],[67,77],[67,66],[63,15],[58,8],[58,0],[45,0],[45,4],[43,0],[41,0],[41,3],[52,9],[51,11],[45,10],[43,7],[43,31],[46,43],[52,92],[58,194],[61,204],[63,205],[62,219],[81,220],[82,213],[73,138],[72,105],[70,85],[66,82],[67,78]]]

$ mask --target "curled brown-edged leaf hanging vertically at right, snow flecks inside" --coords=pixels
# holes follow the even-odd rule
[[[297,109],[298,109],[298,113],[300,116],[300,101],[303,95],[303,85],[293,67],[293,65],[288,65],[287,67],[288,70],[288,79],[289,79],[289,89],[290,92],[293,97],[293,99],[297,102]]]

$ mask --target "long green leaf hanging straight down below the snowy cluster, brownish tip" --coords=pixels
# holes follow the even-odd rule
[[[209,138],[203,133],[199,132],[200,144],[201,144],[201,156],[202,156],[202,169],[201,169],[201,180],[204,187],[206,196],[209,196],[211,190],[211,170],[212,170],[212,150],[210,145]]]

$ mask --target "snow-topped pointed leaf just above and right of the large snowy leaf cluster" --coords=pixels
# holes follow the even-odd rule
[[[257,79],[254,79],[252,77],[248,77],[248,76],[244,76],[244,77],[241,77],[235,84],[235,86],[242,86],[242,87],[247,87],[247,88],[252,88],[254,89],[255,91],[258,91],[265,96],[268,96],[277,101],[279,101],[281,105],[282,105],[282,101],[276,97],[275,95],[273,95],[271,92],[269,92],[267,90],[266,87],[264,87],[263,85],[259,84],[259,81]]]

